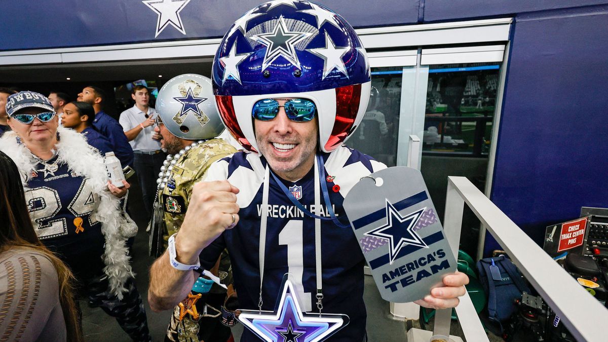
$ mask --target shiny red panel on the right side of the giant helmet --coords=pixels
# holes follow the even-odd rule
[[[351,133],[360,101],[361,84],[336,88],[336,120],[330,138],[325,143],[326,151],[334,150]]]

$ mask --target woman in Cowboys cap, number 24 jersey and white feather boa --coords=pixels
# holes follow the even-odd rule
[[[15,161],[36,235],[72,270],[79,293],[118,321],[136,341],[149,341],[142,299],[135,287],[130,257],[119,226],[119,198],[129,183],[113,186],[103,158],[82,134],[59,125],[42,94],[9,96],[6,111],[12,131],[0,150]]]

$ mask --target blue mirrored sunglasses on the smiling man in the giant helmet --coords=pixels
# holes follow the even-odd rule
[[[279,105],[277,100],[287,100],[287,102]],[[279,107],[285,108],[289,120],[295,122],[310,121],[317,112],[317,106],[308,99],[264,99],[255,102],[251,114],[254,119],[268,121],[277,116]]]

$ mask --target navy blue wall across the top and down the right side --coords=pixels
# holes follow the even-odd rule
[[[539,244],[545,226],[608,207],[608,2],[319,1],[354,27],[514,18],[491,200]],[[0,51],[221,37],[252,0],[191,0],[186,34],[141,1],[2,4]],[[27,15],[25,15],[27,13]],[[491,240],[486,251],[496,248]]]

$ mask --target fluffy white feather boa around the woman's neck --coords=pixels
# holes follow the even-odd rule
[[[89,178],[96,194],[99,194],[100,203],[97,206],[96,218],[102,223],[102,233],[105,237],[105,252],[103,271],[108,276],[109,290],[119,299],[122,299],[126,291],[125,282],[133,277],[130,257],[125,245],[126,239],[120,235],[119,226],[123,224],[120,215],[119,200],[114,197],[106,186],[108,175],[103,164],[103,158],[91,145],[86,142],[82,134],[61,125],[57,131],[60,141],[55,145],[58,154],[58,162],[67,163],[69,169],[78,176]],[[0,150],[15,161],[21,170],[22,181],[27,190],[27,181],[30,180],[32,170],[35,170],[37,159],[24,144],[18,144],[17,134],[7,131],[0,138]]]

